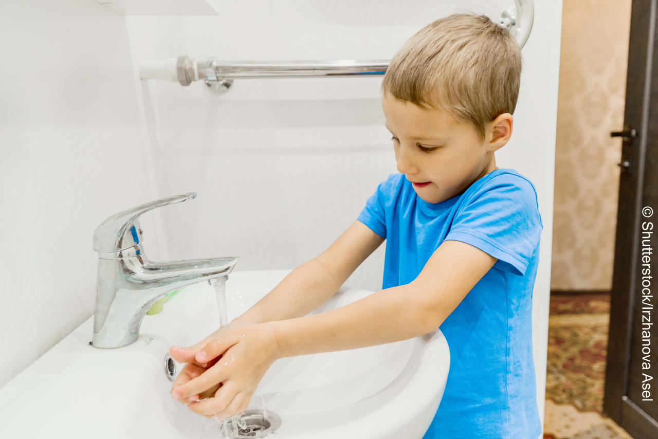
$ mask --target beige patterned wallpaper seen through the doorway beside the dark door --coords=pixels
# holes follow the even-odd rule
[[[630,3],[563,3],[552,290],[611,288]]]

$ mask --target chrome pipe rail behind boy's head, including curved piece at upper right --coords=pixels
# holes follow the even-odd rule
[[[515,5],[501,14],[498,24],[507,28],[520,47],[528,41],[534,21],[533,0],[514,0]],[[142,80],[160,79],[189,86],[203,81],[213,90],[229,90],[236,78],[315,78],[327,76],[371,76],[386,73],[388,60],[330,60],[330,61],[205,61],[186,55],[164,61],[142,61],[139,77]]]

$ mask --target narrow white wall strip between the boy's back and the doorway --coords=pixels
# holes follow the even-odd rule
[[[497,153],[499,167],[515,168],[534,183],[544,225],[532,303],[532,348],[542,426],[551,293],[553,180],[561,25],[561,0],[535,1],[532,33],[522,50],[524,63],[519,102],[514,114],[514,134],[512,140]],[[543,434],[540,437],[543,437]]]

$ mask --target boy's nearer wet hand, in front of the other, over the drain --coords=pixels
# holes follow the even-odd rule
[[[280,352],[276,336],[266,323],[226,326],[215,334],[219,335],[215,340],[195,345],[203,344],[193,357],[186,350],[189,362],[178,375],[171,395],[189,403],[188,408],[200,415],[224,419],[245,411],[256,386]],[[207,369],[195,364],[209,364],[213,359],[215,364]],[[209,398],[195,402],[202,395]]]

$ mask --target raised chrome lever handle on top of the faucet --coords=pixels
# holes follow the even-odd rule
[[[141,228],[139,228],[139,215],[144,212],[163,207],[168,204],[180,203],[197,196],[196,192],[190,194],[174,195],[145,203],[109,217],[99,224],[93,233],[93,249],[99,253],[120,251],[141,242]]]

